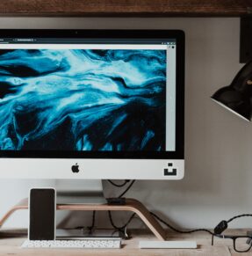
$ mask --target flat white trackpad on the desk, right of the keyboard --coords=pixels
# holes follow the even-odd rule
[[[196,249],[195,241],[140,241],[141,249]]]

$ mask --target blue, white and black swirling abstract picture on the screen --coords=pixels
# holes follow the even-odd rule
[[[1,150],[165,150],[165,50],[0,50]]]

